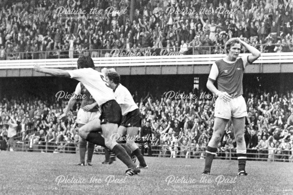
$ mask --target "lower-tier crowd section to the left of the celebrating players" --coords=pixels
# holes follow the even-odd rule
[[[48,143],[47,150],[51,152],[65,147],[69,151],[72,150],[71,147],[78,142],[76,112],[73,111],[68,119],[60,120],[59,116],[64,108],[64,104],[59,105],[53,101],[42,101],[27,96],[11,100],[2,99],[0,103],[0,126],[2,128],[0,149],[7,149],[8,123],[11,120],[12,123],[18,125],[16,140],[27,141],[29,150],[33,149],[34,145],[39,145],[37,149],[44,152],[46,142]],[[75,113],[74,116],[73,113]]]

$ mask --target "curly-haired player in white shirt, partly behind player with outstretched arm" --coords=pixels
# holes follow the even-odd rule
[[[116,101],[122,111],[123,120],[118,128],[118,133],[120,137],[126,134],[126,147],[130,147],[133,154],[139,160],[139,167],[148,168],[141,150],[139,150],[137,143],[134,142],[135,137],[138,135],[139,127],[142,124],[139,108],[135,104],[128,89],[120,84],[120,75],[115,70],[108,70],[106,73],[106,81],[111,89],[113,89]]]

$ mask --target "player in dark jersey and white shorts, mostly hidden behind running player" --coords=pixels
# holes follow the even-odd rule
[[[74,95],[69,99],[68,104],[65,108],[64,113],[59,117],[60,119],[67,116],[67,113],[70,111],[72,106],[76,101],[76,97],[81,94],[81,106],[77,113],[76,122],[78,127],[81,128],[89,121],[98,119],[100,116],[99,107],[96,101],[91,97],[91,94],[88,92],[86,87],[79,82],[75,88]],[[87,147],[86,147],[87,146]],[[95,144],[87,142],[84,138],[79,135],[79,157],[80,162],[77,164],[79,166],[89,165],[92,166],[91,160],[93,157],[93,151]],[[88,151],[87,160],[85,163],[86,150]]]

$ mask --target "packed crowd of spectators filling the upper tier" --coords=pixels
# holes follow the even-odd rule
[[[287,0],[144,0],[134,1],[132,13],[128,0],[0,3],[0,60],[219,54],[232,37],[262,53],[293,49]]]

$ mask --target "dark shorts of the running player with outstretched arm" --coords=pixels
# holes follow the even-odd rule
[[[109,100],[101,106],[101,124],[116,123],[120,124],[122,118],[122,112],[119,104],[116,100]]]

